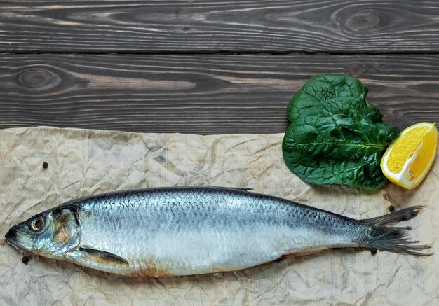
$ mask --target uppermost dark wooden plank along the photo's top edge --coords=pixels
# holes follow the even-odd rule
[[[439,51],[439,1],[0,1],[0,52]]]

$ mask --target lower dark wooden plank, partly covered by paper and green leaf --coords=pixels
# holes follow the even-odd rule
[[[439,55],[1,55],[0,127],[284,132],[292,95],[334,73],[389,123],[439,122]]]

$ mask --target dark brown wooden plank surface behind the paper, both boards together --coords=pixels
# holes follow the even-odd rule
[[[439,1],[0,1],[0,128],[285,132],[315,74],[439,122]]]

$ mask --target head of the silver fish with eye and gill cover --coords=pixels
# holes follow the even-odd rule
[[[79,245],[80,232],[75,209],[59,207],[13,226],[5,238],[23,251],[59,259]]]

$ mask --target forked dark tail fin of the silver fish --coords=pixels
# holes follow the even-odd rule
[[[364,246],[367,249],[377,249],[381,251],[391,251],[394,253],[404,253],[415,256],[430,256],[431,253],[421,253],[431,246],[418,244],[419,241],[407,238],[410,227],[391,227],[386,226],[390,223],[406,221],[414,218],[424,207],[421,205],[401,209],[400,211],[364,220],[368,225],[367,239]]]

